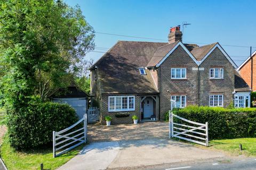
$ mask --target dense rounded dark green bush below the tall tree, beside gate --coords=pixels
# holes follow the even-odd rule
[[[76,112],[67,104],[33,100],[27,107],[7,115],[10,145],[18,150],[51,145],[52,132],[78,121]]]

